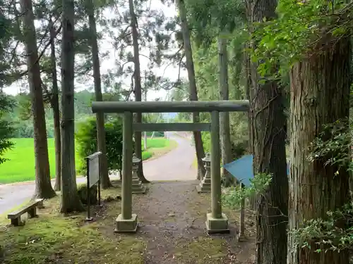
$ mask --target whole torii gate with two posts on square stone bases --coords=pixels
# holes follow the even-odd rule
[[[222,213],[220,173],[220,112],[245,112],[249,101],[94,101],[92,112],[122,113],[123,175],[121,214],[115,232],[136,232],[137,215],[132,213],[133,131],[210,131],[211,132],[211,213],[206,215],[209,234],[228,233],[228,218]],[[210,112],[210,123],[133,123],[133,113],[196,113]]]

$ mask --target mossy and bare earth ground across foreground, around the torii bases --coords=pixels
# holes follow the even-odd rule
[[[119,182],[102,191],[109,197],[94,208],[95,222],[86,223],[85,213],[60,215],[59,197],[44,201],[39,217],[21,227],[8,227],[0,220],[0,263],[248,263],[237,261],[239,244],[234,222],[238,214],[225,208],[232,226],[227,236],[205,234],[205,214],[210,195],[194,191],[196,182],[155,182],[147,194],[133,196],[133,213],[140,228],[136,234],[115,234],[114,220],[121,211]],[[113,201],[110,201],[114,199]],[[240,245],[241,247],[241,245]],[[1,256],[2,255],[2,256]]]

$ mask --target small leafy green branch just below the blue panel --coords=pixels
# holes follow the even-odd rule
[[[242,199],[251,198],[258,194],[263,194],[272,180],[272,175],[260,173],[251,179],[249,187],[229,187],[222,195],[222,203],[230,208],[238,208]]]

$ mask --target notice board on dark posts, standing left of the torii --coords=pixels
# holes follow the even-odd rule
[[[90,215],[90,188],[98,183],[98,206],[100,206],[100,155],[98,151],[86,157],[87,165],[87,222],[91,222],[93,218]]]

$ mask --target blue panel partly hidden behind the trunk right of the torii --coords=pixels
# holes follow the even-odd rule
[[[245,186],[250,186],[250,180],[253,178],[253,155],[244,155],[236,161],[223,165],[230,174],[236,177]],[[289,165],[287,164],[287,175],[289,174]]]

